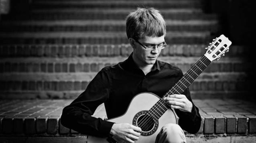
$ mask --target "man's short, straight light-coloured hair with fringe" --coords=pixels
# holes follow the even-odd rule
[[[127,38],[139,40],[144,36],[161,37],[166,35],[166,22],[159,10],[137,8],[126,19]]]

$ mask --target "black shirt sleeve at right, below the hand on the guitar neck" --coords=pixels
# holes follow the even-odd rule
[[[188,133],[197,133],[201,126],[201,115],[199,114],[199,109],[193,103],[189,89],[186,89],[182,94],[186,95],[187,99],[193,104],[193,107],[191,113],[175,109],[175,112],[179,117],[178,124]]]

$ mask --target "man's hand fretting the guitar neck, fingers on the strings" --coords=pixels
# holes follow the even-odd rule
[[[171,108],[179,109],[183,112],[191,113],[192,111],[192,103],[183,94],[168,95],[164,97],[164,101],[166,101],[166,104]]]

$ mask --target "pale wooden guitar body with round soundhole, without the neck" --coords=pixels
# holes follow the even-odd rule
[[[158,97],[154,93],[147,93],[147,92],[140,93],[132,99],[124,115],[121,115],[113,119],[109,119],[108,121],[115,122],[115,123],[129,123],[137,126],[139,126],[140,124],[143,125],[143,123],[140,121],[143,121],[143,119],[146,119],[145,113],[147,113],[147,111],[150,110],[150,108],[153,105],[155,105],[156,102],[159,101],[159,99],[160,97]],[[152,122],[153,120],[154,119],[152,119]],[[136,141],[136,143],[154,143],[156,136],[160,132],[160,129],[168,123],[175,123],[175,124],[178,123],[177,115],[173,109],[167,109],[167,111],[162,115],[162,117],[158,119],[158,121],[154,122],[154,125],[152,123],[152,125],[149,125],[148,129],[147,128],[144,129],[146,131],[143,131],[143,133],[141,133],[141,136],[139,137],[139,140]],[[107,140],[109,139],[88,136],[88,143],[110,143],[111,142]]]

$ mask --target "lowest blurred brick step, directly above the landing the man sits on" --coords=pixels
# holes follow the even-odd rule
[[[14,80],[0,81],[0,99],[70,99],[76,98],[90,81],[44,81]],[[248,94],[246,81],[196,80],[189,86],[192,97],[206,98],[242,98]]]

